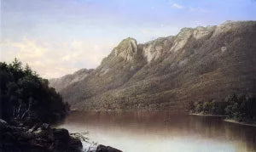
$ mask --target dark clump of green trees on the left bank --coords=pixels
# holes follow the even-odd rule
[[[69,105],[63,103],[48,80],[39,77],[18,59],[0,62],[0,118],[10,123],[32,125],[63,120]]]

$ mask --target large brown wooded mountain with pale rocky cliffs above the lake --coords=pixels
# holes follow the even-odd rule
[[[256,21],[239,21],[144,44],[129,37],[79,81],[50,84],[78,110],[184,110],[188,101],[255,95],[255,73]]]

